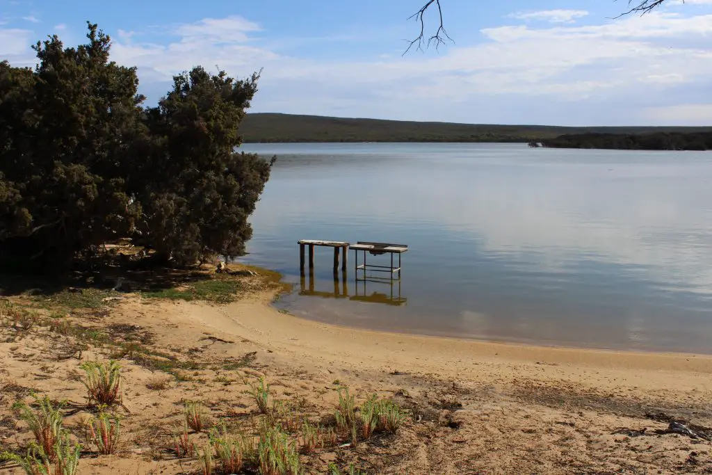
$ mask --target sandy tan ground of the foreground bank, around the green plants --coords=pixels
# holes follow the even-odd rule
[[[340,386],[357,404],[377,393],[409,411],[395,435],[355,447],[340,436],[302,455],[308,474],[330,463],[366,474],[712,474],[712,357],[340,328],[272,308],[277,289],[261,275],[239,279],[247,290],[233,303],[114,292],[67,308],[11,297],[66,323],[23,329],[0,317],[0,452],[31,440],[11,409],[31,391],[66,400],[65,426],[81,440],[93,409],[80,362],[111,357],[122,365],[122,444],[110,456],[86,447],[80,475],[199,473],[171,450],[184,401],[253,432],[263,416],[247,383],[261,376],[272,400],[325,427]],[[698,437],[667,431],[673,420]],[[0,463],[0,474],[20,473]]]

